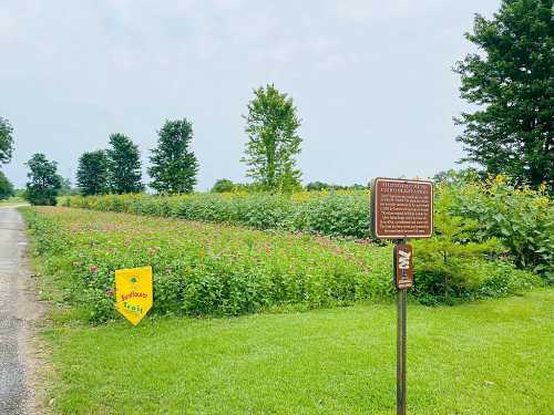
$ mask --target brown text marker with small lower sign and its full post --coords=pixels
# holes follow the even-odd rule
[[[397,289],[397,415],[406,415],[407,290],[413,287],[412,247],[408,238],[433,234],[433,186],[425,180],[377,178],[371,186],[371,232],[394,240],[393,286]]]

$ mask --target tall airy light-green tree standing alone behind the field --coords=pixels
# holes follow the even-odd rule
[[[289,190],[300,184],[295,156],[300,153],[300,120],[293,98],[274,85],[254,90],[246,120],[247,176],[269,190]]]

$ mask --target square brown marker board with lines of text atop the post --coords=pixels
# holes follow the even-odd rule
[[[371,187],[371,231],[378,239],[430,238],[433,184],[376,178]]]

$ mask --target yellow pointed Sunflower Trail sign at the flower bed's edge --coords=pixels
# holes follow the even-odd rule
[[[133,325],[152,308],[152,267],[115,270],[117,311]]]

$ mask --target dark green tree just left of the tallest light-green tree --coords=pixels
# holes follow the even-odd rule
[[[161,194],[193,191],[198,172],[198,162],[189,148],[193,124],[186,118],[166,121],[157,136],[157,147],[150,157],[148,174],[154,179],[150,186]]]

